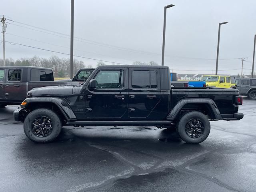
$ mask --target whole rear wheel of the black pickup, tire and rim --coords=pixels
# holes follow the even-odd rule
[[[210,121],[201,112],[192,111],[184,114],[178,123],[180,138],[186,143],[198,144],[210,134]]]

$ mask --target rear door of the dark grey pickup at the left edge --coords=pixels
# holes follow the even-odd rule
[[[8,69],[5,84],[5,98],[22,101],[26,97],[26,82],[22,82],[23,68]]]

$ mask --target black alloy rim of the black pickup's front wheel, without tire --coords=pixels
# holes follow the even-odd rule
[[[50,118],[38,116],[31,124],[31,131],[38,137],[46,137],[52,133],[53,124]]]

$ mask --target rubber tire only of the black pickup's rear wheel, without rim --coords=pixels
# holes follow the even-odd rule
[[[204,131],[203,131],[202,135],[198,136],[197,138],[190,137],[187,134],[186,129],[185,129],[187,126],[187,123],[192,119],[200,120],[204,126]],[[178,126],[177,126],[177,132],[180,135],[180,138],[184,142],[190,143],[190,144],[198,144],[198,143],[201,143],[204,140],[206,140],[206,138],[210,134],[210,129],[211,129],[211,125],[210,125],[210,121],[208,120],[207,116],[205,114],[203,114],[201,112],[197,112],[197,111],[192,111],[192,112],[188,112],[188,113],[184,114],[180,118],[180,120],[178,122]]]

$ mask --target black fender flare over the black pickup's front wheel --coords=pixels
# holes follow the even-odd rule
[[[69,121],[69,120],[76,120],[76,115],[70,108],[69,104],[64,100],[63,98],[58,98],[58,97],[35,97],[35,98],[26,98],[23,102],[26,102],[26,106],[31,103],[42,103],[42,102],[47,102],[47,103],[53,103],[55,104],[64,117]],[[26,108],[26,106],[24,108]]]

